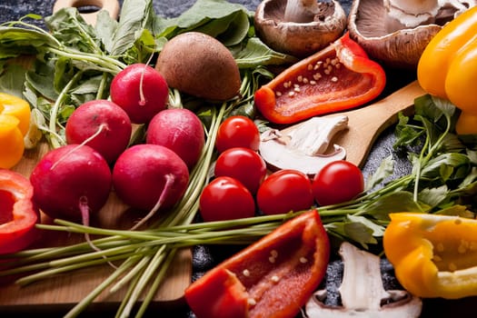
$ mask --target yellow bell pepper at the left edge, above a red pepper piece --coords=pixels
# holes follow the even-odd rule
[[[25,152],[30,105],[22,98],[0,93],[0,168],[10,169]]]

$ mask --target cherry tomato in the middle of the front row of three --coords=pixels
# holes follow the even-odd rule
[[[283,169],[270,174],[257,191],[263,214],[285,214],[308,210],[314,203],[310,178],[297,170]]]

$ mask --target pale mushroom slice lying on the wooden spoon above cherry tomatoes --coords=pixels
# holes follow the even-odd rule
[[[333,136],[348,126],[348,117],[312,117],[283,130],[261,134],[259,152],[272,169],[294,169],[313,175],[324,164],[346,157],[343,147],[330,144]]]

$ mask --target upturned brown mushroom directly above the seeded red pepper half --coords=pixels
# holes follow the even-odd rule
[[[263,0],[255,11],[254,25],[273,50],[305,57],[343,35],[346,14],[335,0]]]

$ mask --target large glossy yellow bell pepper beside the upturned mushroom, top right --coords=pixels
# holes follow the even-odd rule
[[[458,134],[477,134],[477,6],[434,35],[422,52],[417,79],[427,93],[462,110],[456,124]]]

